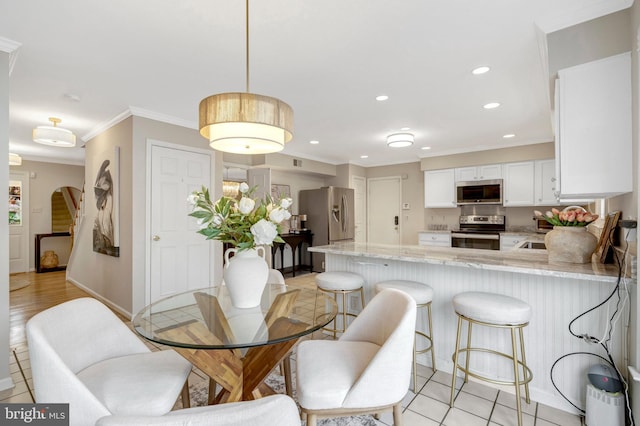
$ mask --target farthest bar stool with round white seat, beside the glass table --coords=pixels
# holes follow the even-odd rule
[[[356,314],[348,312],[347,295],[355,292],[360,292],[360,304],[364,309],[364,291],[362,286],[364,285],[364,278],[353,272],[331,271],[321,272],[316,275],[316,286],[318,291],[325,293],[332,293],[336,303],[338,303],[338,294],[342,295],[342,311],[338,305],[338,314],[333,320],[333,328],[324,327],[323,330],[332,331],[333,338],[336,338],[336,333],[344,333],[347,329],[347,317],[357,317]],[[338,328],[338,315],[342,315],[342,328]]]

